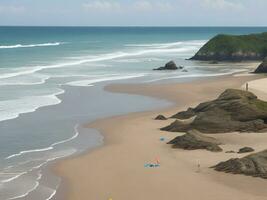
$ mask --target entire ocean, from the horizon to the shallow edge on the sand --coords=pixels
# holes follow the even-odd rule
[[[186,60],[219,33],[267,27],[0,27],[0,199],[49,200],[46,166],[103,143],[83,124],[171,102],[112,94],[110,83],[190,81],[248,71]],[[153,71],[174,60],[187,72]],[[131,106],[129,106],[131,105]]]

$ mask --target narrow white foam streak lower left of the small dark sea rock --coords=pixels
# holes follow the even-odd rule
[[[85,87],[85,86],[93,86],[93,83],[99,83],[99,82],[104,82],[104,81],[114,81],[114,80],[124,80],[124,79],[131,79],[131,78],[139,78],[139,77],[143,77],[143,76],[145,76],[145,74],[113,76],[113,77],[105,77],[105,78],[97,78],[97,79],[72,81],[72,82],[66,83],[66,85]]]

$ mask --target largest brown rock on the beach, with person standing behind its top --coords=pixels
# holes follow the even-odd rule
[[[185,124],[181,119],[193,118]],[[178,120],[165,131],[184,132],[192,129],[203,133],[260,132],[267,130],[267,102],[247,91],[227,89],[216,100],[179,112]]]

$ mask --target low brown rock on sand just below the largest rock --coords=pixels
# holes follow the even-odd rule
[[[186,150],[206,149],[212,152],[220,152],[221,144],[215,138],[205,136],[198,131],[189,131],[185,135],[179,136],[168,142],[172,144],[173,148],[180,148]]]

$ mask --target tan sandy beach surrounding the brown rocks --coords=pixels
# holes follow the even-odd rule
[[[172,149],[166,142],[181,133],[160,131],[170,124],[155,121],[158,114],[169,117],[189,106],[216,98],[226,88],[242,88],[246,82],[259,97],[267,100],[267,79],[258,76],[223,76],[188,83],[109,85],[110,92],[146,95],[175,103],[164,110],[132,113],[87,124],[105,137],[104,145],[82,156],[60,161],[57,175],[65,181],[64,199],[69,200],[265,200],[266,180],[219,173],[210,167],[246,154],[225,151],[251,146],[266,149],[267,134],[214,134],[223,152]],[[260,82],[259,82],[260,81]],[[164,138],[165,141],[161,141]],[[158,168],[144,164],[160,162]],[[200,164],[200,170],[198,170]]]

